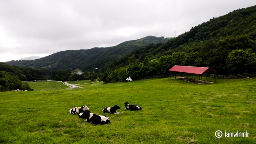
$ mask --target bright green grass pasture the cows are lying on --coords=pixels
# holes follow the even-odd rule
[[[31,85],[45,91],[0,93],[0,143],[256,143],[255,85],[256,79],[202,85],[170,78],[71,90]],[[125,102],[143,110],[127,111]],[[84,104],[99,115],[117,104],[123,113],[105,114],[110,124],[93,125],[69,114]],[[249,135],[227,137],[225,131]]]

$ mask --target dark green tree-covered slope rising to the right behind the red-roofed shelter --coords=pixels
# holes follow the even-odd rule
[[[256,6],[192,27],[161,45],[151,44],[112,63],[103,81],[169,74],[174,65],[210,67],[218,74],[256,71]]]

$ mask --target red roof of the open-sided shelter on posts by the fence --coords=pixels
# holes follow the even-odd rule
[[[169,71],[174,72],[184,72],[184,73],[193,73],[193,74],[203,74],[207,70],[215,70],[206,67],[196,67],[196,66],[181,66],[181,65],[174,65]]]

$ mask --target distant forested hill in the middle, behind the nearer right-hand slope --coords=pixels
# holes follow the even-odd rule
[[[51,54],[41,59],[5,62],[9,65],[26,66],[31,68],[48,68],[50,70],[64,70],[79,68],[92,71],[102,68],[108,63],[140,49],[151,43],[165,43],[171,38],[147,36],[138,40],[131,40],[107,48],[92,48],[88,50],[66,50]]]

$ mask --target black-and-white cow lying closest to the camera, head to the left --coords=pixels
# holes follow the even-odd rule
[[[105,115],[97,115],[97,114],[93,114],[90,111],[85,111],[83,113],[80,113],[78,115],[79,117],[86,119],[85,121],[87,122],[92,122],[93,124],[109,124],[109,118],[106,117]]]

